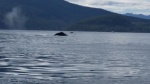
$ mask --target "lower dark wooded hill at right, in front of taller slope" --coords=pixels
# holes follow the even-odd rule
[[[150,20],[112,14],[84,19],[70,26],[68,30],[104,32],[150,32],[149,24]]]

